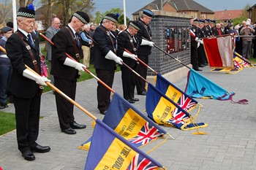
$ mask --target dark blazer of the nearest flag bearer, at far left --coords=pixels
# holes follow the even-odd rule
[[[7,50],[7,56],[10,58],[12,63],[12,75],[10,77],[10,82],[8,85],[8,93],[18,98],[33,98],[37,93],[39,93],[39,85],[34,80],[23,77],[23,71],[26,69],[25,64],[35,71],[34,64],[27,50],[23,39],[28,42],[27,37],[23,35],[23,39],[17,34],[19,30],[12,34],[12,36],[7,39],[5,45]],[[21,32],[20,32],[21,33]],[[34,45],[30,45],[31,51],[34,54],[34,58],[37,60],[37,66],[40,72],[40,58],[39,58],[39,39],[35,34],[31,34],[34,40]]]

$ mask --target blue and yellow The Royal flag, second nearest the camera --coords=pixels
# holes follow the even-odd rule
[[[167,134],[165,130],[133,107],[132,104],[129,104],[118,93],[114,93],[102,122],[134,144],[135,147],[141,147]],[[81,144],[79,148],[88,150],[90,142],[91,139]]]

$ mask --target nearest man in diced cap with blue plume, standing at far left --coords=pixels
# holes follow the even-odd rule
[[[18,149],[27,161],[35,159],[33,152],[48,152],[50,147],[37,144],[42,85],[50,82],[40,77],[39,39],[31,36],[34,29],[34,7],[20,7],[17,14],[18,31],[7,39],[7,56],[12,63],[8,91],[13,96]],[[29,66],[33,71],[26,69]]]

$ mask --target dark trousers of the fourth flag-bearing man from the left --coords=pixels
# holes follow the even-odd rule
[[[121,80],[125,99],[134,98],[136,75],[128,68],[121,67]]]

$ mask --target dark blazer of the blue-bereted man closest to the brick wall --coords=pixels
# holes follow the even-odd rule
[[[143,22],[143,20],[139,20],[138,24],[140,26],[140,31],[137,33],[137,38],[141,44],[142,37],[146,38],[148,41],[151,41],[151,29],[149,28],[146,23]],[[147,56],[151,54],[151,48],[149,45],[140,45],[140,48],[138,50],[138,55]]]

